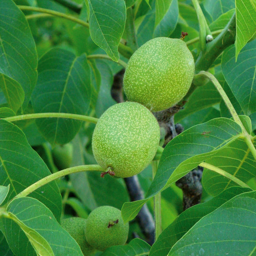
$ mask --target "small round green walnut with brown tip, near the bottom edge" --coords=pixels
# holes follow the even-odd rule
[[[88,216],[85,236],[91,247],[104,251],[113,245],[125,244],[128,231],[129,224],[124,223],[119,209],[101,206]]]

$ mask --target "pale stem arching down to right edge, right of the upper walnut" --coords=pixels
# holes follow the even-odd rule
[[[215,76],[213,76],[211,73],[206,72],[206,71],[201,71],[198,73],[198,75],[204,75],[206,76],[210,81],[212,81],[212,83],[214,84],[215,88],[218,90],[218,92],[220,93],[223,101],[225,102],[228,110],[230,111],[234,121],[240,125],[242,132],[243,132],[243,136],[244,136],[244,141],[247,144],[248,148],[250,149],[251,153],[253,154],[254,159],[256,160],[256,148],[253,145],[252,142],[252,137],[250,136],[250,134],[247,133],[246,129],[244,128],[243,123],[241,122],[238,114],[236,113],[235,108],[233,107],[232,103],[230,102],[230,99],[228,98],[227,94],[225,93],[225,91],[223,90],[223,88],[221,87],[221,84],[218,82],[218,80],[215,78]]]

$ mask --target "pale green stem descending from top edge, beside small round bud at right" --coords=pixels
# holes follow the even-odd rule
[[[200,48],[202,52],[205,52],[206,50],[206,20],[204,17],[204,14],[202,12],[202,9],[198,3],[198,0],[192,0],[193,6],[195,8],[195,12],[198,16],[198,23],[199,23],[199,42],[200,42]]]

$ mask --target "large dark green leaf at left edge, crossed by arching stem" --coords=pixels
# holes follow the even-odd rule
[[[10,191],[5,202],[40,180],[50,171],[39,155],[30,147],[20,129],[0,119],[0,184],[10,184]],[[61,195],[55,181],[42,186],[30,194],[44,203],[60,219]]]

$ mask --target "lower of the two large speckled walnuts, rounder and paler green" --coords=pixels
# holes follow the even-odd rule
[[[160,128],[153,114],[136,102],[111,106],[99,118],[93,131],[93,155],[116,177],[138,174],[151,162],[160,140]]]

